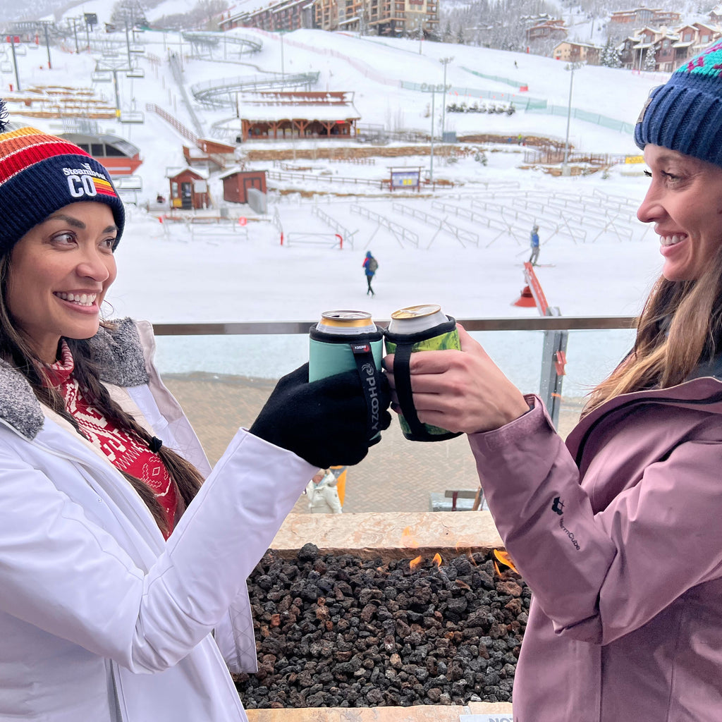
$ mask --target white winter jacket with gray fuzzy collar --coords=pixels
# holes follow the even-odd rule
[[[211,471],[150,324],[92,347],[121,405],[208,476],[165,542],[103,453],[0,365],[0,721],[245,721],[224,661],[256,669],[245,580],[316,468],[239,430]]]

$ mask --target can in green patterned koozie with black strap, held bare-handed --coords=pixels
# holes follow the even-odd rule
[[[456,320],[446,316],[440,305],[406,306],[391,314],[384,334],[386,352],[393,356],[393,378],[401,406],[399,423],[404,436],[412,441],[443,441],[459,435],[431,424],[423,424],[414,409],[409,360],[416,351],[461,349]]]

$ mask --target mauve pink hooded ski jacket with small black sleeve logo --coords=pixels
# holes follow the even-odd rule
[[[515,722],[722,720],[722,381],[469,436],[534,592]]]

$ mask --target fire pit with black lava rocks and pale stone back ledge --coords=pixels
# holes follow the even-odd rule
[[[249,580],[245,707],[508,703],[530,593],[500,546],[484,512],[292,515]]]

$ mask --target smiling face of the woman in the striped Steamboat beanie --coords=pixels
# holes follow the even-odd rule
[[[11,251],[5,303],[13,323],[45,362],[61,336],[89,339],[116,279],[118,228],[104,203],[64,206],[28,231]]]

